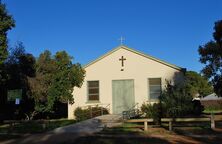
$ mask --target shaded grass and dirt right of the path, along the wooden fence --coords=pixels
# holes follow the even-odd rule
[[[148,128],[147,132],[142,130],[142,123],[128,123],[120,127],[106,128],[94,135],[77,138],[74,143],[78,144],[147,144],[147,143],[210,143],[215,144],[222,140],[221,132],[215,132],[207,127],[178,127],[170,132],[162,127]],[[195,138],[186,134],[207,134],[208,137]],[[219,134],[219,135],[217,135]],[[69,143],[69,142],[67,142]]]

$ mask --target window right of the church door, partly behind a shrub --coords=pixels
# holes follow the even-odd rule
[[[149,78],[150,99],[156,100],[161,94],[161,78]]]

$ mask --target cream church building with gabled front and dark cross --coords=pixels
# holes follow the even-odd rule
[[[121,114],[135,104],[158,102],[166,81],[180,83],[185,69],[119,46],[84,66],[81,88],[74,88],[74,104],[68,105],[68,118],[77,107],[109,106],[111,114]]]

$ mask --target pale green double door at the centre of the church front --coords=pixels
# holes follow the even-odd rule
[[[121,114],[135,105],[134,80],[113,80],[113,113]]]

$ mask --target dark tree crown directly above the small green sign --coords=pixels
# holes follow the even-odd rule
[[[35,58],[25,52],[22,42],[18,42],[11,49],[5,62],[8,74],[7,89],[22,89],[23,95],[28,91],[27,77],[35,76]]]

